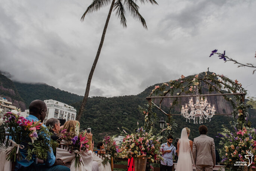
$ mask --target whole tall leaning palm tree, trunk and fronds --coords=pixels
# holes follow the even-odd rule
[[[92,75],[95,70],[96,64],[98,62],[99,54],[101,53],[101,48],[102,48],[105,34],[107,31],[108,22],[110,21],[111,12],[115,11],[115,15],[117,15],[117,17],[120,18],[120,24],[123,25],[124,28],[126,28],[127,25],[126,25],[125,10],[124,10],[124,6],[125,6],[126,9],[129,11],[130,15],[137,21],[141,22],[142,26],[145,29],[147,29],[146,21],[139,13],[139,6],[136,4],[137,1],[140,1],[142,4],[145,4],[145,3],[151,3],[152,5],[157,4],[157,2],[155,0],[134,0],[134,1],[133,0],[112,0],[112,2],[111,2],[111,0],[93,0],[92,4],[90,4],[90,6],[87,7],[86,11],[84,12],[83,16],[81,17],[81,21],[84,21],[84,17],[86,14],[92,13],[94,11],[98,11],[102,7],[105,7],[111,3],[110,10],[108,12],[108,17],[107,17],[107,20],[106,20],[106,23],[105,23],[105,26],[103,29],[102,36],[101,36],[101,42],[99,43],[99,48],[98,48],[96,57],[94,59],[88,80],[87,80],[86,90],[84,93],[84,99],[82,101],[81,108],[79,109],[78,115],[76,117],[77,120],[80,120],[81,116],[83,115],[84,106],[86,105],[86,102],[87,102],[87,99],[89,96]]]

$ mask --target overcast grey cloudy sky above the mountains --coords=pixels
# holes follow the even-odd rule
[[[84,95],[110,6],[81,16],[92,0],[1,0],[0,71]],[[210,52],[256,65],[255,0],[157,0],[140,6],[148,30],[112,13],[89,96],[138,94],[156,83],[207,71],[256,96],[256,73]]]

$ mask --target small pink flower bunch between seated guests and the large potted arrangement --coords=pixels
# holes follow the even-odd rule
[[[105,144],[105,158],[102,161],[102,164],[105,166],[108,163],[108,160],[110,159],[110,157],[112,156],[113,158],[115,156],[117,156],[117,153],[119,153],[119,149],[114,140],[115,136],[105,136],[103,143]]]

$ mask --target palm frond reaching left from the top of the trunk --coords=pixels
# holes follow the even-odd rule
[[[87,13],[92,13],[94,11],[98,11],[102,7],[107,6],[111,3],[111,0],[93,0],[93,2],[87,7],[86,11],[84,12],[83,16],[81,17],[81,21],[84,21],[84,17]]]

